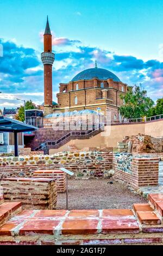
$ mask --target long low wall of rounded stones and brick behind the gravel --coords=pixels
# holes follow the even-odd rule
[[[112,152],[61,152],[54,155],[0,157],[0,179],[33,177],[38,169],[72,170],[72,178],[107,178],[112,169]]]

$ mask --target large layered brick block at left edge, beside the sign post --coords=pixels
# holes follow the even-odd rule
[[[1,180],[5,202],[22,203],[22,209],[55,209],[57,185],[53,179],[7,178]]]

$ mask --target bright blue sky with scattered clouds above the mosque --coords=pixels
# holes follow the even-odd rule
[[[43,32],[53,34],[53,100],[59,83],[99,68],[163,97],[162,0],[0,1],[0,108],[43,102]]]

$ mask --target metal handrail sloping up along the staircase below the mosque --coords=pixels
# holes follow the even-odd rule
[[[103,124],[96,125],[92,127],[92,129],[87,131],[70,131],[66,135],[62,136],[60,139],[57,139],[55,141],[46,141],[44,143],[41,143],[39,147],[32,149],[33,151],[42,150],[43,148],[46,148],[47,146],[56,146],[59,145],[61,142],[65,141],[67,138],[71,136],[87,136],[90,135],[92,132],[101,130],[104,127]]]

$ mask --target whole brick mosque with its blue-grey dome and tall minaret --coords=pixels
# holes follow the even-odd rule
[[[44,66],[44,116],[55,116],[55,113],[90,111],[109,111],[112,120],[118,120],[118,108],[123,105],[120,95],[127,92],[127,84],[109,70],[98,68],[86,69],[79,72],[70,82],[60,83],[57,94],[58,103],[52,99],[52,66],[55,54],[52,52],[52,34],[47,18],[45,33],[43,35],[44,52],[41,59]]]

